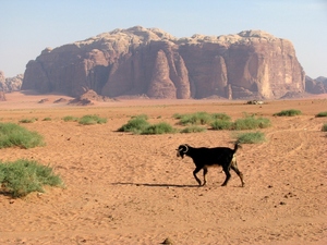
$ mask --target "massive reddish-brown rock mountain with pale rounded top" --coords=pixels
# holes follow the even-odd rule
[[[150,98],[259,97],[303,93],[292,44],[261,30],[174,38],[135,26],[45,49],[26,65],[22,89],[80,96]]]

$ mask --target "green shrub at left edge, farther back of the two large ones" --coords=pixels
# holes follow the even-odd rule
[[[27,149],[43,145],[44,137],[37,132],[14,123],[0,123],[0,149],[13,146]]]

